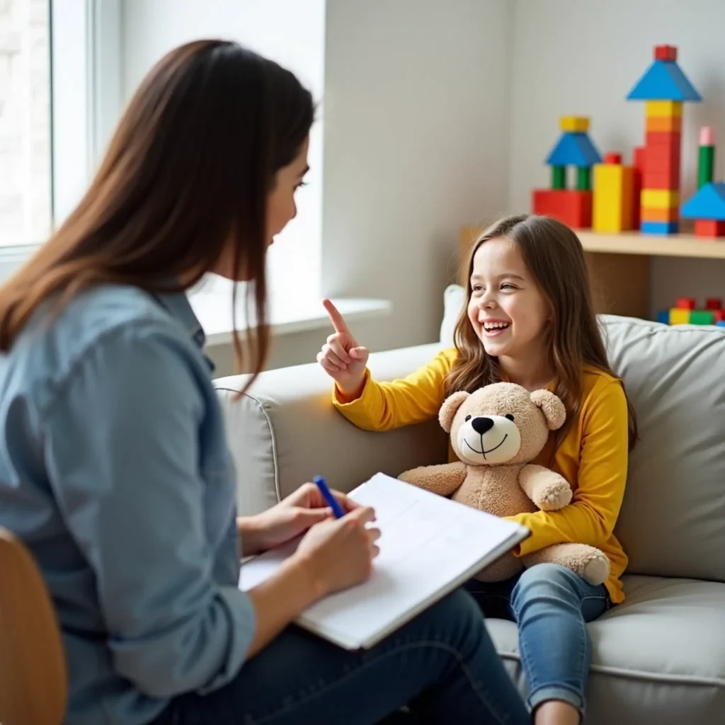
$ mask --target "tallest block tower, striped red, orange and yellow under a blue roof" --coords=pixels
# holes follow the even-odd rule
[[[645,101],[645,168],[642,174],[642,233],[679,231],[682,104],[702,96],[677,65],[675,46],[655,46],[655,58],[627,96]]]

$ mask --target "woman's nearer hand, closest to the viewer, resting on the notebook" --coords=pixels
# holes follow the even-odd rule
[[[295,561],[306,568],[316,597],[339,592],[368,579],[379,553],[379,529],[367,529],[373,509],[357,508],[344,518],[312,526],[299,542]]]

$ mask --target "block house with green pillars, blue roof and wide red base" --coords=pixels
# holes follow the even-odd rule
[[[562,116],[562,134],[547,156],[551,167],[551,188],[534,189],[534,214],[558,219],[579,229],[592,225],[592,166],[602,158],[589,138],[589,118]],[[566,170],[576,167],[576,188],[566,188]]]

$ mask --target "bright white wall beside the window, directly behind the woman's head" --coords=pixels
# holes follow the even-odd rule
[[[236,40],[293,70],[316,99],[323,94],[325,0],[125,0],[123,94],[128,99],[149,68],[180,43]],[[298,214],[269,254],[270,294],[320,293],[323,124],[310,135],[309,185]]]

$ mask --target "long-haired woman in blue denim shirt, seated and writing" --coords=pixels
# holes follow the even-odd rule
[[[235,43],[171,51],[78,208],[0,290],[0,524],[56,605],[71,725],[373,723],[406,703],[527,721],[463,592],[365,653],[289,626],[368,576],[373,511],[336,494],[336,520],[307,485],[235,520],[184,291],[210,272],[249,282],[259,373],[265,253],[295,215],[313,115],[290,72]],[[238,589],[240,538],[246,555],[305,532],[277,576]]]

